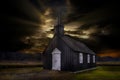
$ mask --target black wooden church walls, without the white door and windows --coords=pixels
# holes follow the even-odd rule
[[[94,54],[90,54],[90,63],[87,63],[87,54],[89,53],[76,52],[59,36],[55,36],[43,53],[45,69],[52,69],[52,51],[55,48],[58,48],[61,51],[61,70],[63,71],[78,71],[95,66],[95,63],[93,63]],[[79,63],[79,53],[83,53],[83,64]]]

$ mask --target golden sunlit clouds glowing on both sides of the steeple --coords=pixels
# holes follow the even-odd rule
[[[82,14],[74,13],[74,6],[70,2],[70,0],[65,0],[65,4],[59,4],[56,6],[56,3],[52,3],[52,5],[45,4],[46,1],[43,1],[40,4],[43,10],[35,9],[33,12],[37,14],[37,18],[40,21],[39,27],[35,34],[30,36],[30,39],[34,41],[34,46],[32,49],[39,48],[40,46],[46,45],[46,42],[42,42],[44,44],[39,44],[40,40],[49,40],[54,36],[54,25],[56,25],[56,14],[59,10],[63,11],[62,21],[64,23],[64,31],[65,35],[70,35],[76,38],[80,38],[83,40],[97,40],[96,35],[108,35],[109,34],[109,27],[108,28],[100,28],[97,22],[102,20],[104,16],[99,16],[97,12],[100,11],[92,11],[90,13],[86,13],[83,16]],[[44,3],[45,2],[45,3]],[[31,5],[31,4],[29,4]],[[32,5],[32,9],[34,9]],[[26,9],[25,9],[26,10]],[[106,9],[105,9],[106,10]],[[102,12],[103,13],[103,12]],[[29,13],[27,13],[29,14]],[[30,13],[32,14],[32,13]],[[102,14],[104,15],[104,14]],[[36,18],[36,16],[33,16]],[[95,17],[94,17],[95,16]],[[97,19],[96,19],[97,17]],[[90,24],[90,25],[89,25]],[[85,25],[85,26],[84,26]],[[34,40],[33,40],[34,39]]]

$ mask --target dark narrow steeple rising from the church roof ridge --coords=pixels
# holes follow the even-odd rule
[[[61,13],[59,13],[57,15],[57,22],[56,25],[54,26],[54,32],[55,35],[64,35],[64,25],[62,23],[62,19],[61,19]]]

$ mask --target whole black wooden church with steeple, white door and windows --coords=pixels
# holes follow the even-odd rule
[[[54,37],[43,52],[44,69],[80,71],[96,66],[95,53],[85,44],[64,35],[64,25],[58,17]]]

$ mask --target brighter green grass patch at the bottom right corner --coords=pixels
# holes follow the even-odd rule
[[[120,80],[120,66],[99,66],[96,70],[78,73],[75,80]]]

